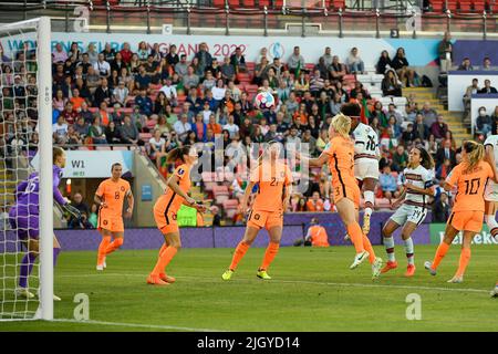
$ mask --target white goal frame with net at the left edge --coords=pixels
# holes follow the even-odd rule
[[[51,320],[50,19],[0,25],[0,321]],[[35,153],[37,171],[29,164]]]

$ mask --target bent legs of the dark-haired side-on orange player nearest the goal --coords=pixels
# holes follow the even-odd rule
[[[175,282],[174,277],[166,274],[166,268],[181,248],[181,241],[179,232],[169,232],[164,235],[166,248],[162,248],[157,258],[156,266],[151,274],[147,277],[147,284],[151,285],[169,285]]]

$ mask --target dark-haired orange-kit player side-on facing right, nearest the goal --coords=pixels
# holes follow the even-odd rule
[[[175,282],[175,278],[166,275],[166,267],[181,247],[178,222],[176,221],[181,205],[196,208],[200,212],[206,211],[201,204],[197,204],[194,198],[188,196],[191,186],[190,169],[196,164],[197,158],[196,148],[188,145],[177,147],[168,153],[168,163],[180,160],[181,165],[168,178],[165,194],[154,205],[154,219],[164,236],[165,242],[159,250],[156,266],[147,277],[147,284],[169,285]]]

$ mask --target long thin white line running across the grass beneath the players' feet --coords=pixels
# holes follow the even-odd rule
[[[61,278],[74,278],[74,277],[81,277],[81,278],[94,278],[94,277],[143,277],[146,278],[147,274],[125,274],[125,273],[102,273],[102,274],[73,274],[73,275],[59,275]],[[194,279],[194,280],[209,280],[209,282],[218,281],[218,278],[206,278],[206,277],[176,277],[178,279]],[[247,281],[248,279],[240,279],[235,280],[234,282],[242,282]],[[221,279],[219,280],[221,282]],[[416,287],[416,285],[387,285],[387,284],[362,284],[362,283],[335,283],[335,282],[328,282],[328,281],[307,281],[307,280],[278,280],[273,279],[271,282],[279,282],[279,283],[290,283],[290,284],[311,284],[311,285],[331,285],[331,287],[356,287],[356,288],[392,288],[392,289],[409,289],[409,290],[435,290],[435,291],[455,291],[455,292],[478,292],[478,293],[489,293],[488,290],[484,289],[473,289],[473,288],[465,288],[465,289],[452,289],[452,288],[440,288],[440,287]]]

